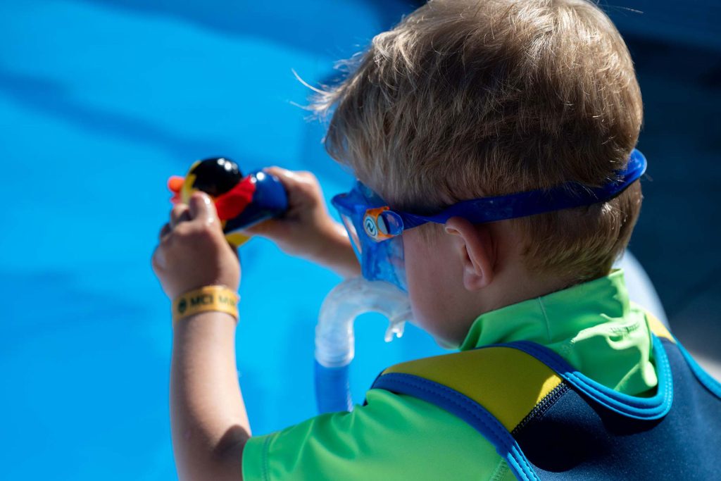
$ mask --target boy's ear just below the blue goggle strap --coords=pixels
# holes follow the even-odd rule
[[[474,225],[462,217],[446,221],[446,234],[458,236],[458,255],[463,265],[463,283],[469,291],[477,291],[493,281],[495,245],[490,229]]]

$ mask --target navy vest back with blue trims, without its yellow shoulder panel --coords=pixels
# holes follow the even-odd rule
[[[652,339],[658,389],[650,398],[603,387],[535,343],[503,345],[562,379],[512,433],[478,402],[415,374],[382,374],[373,388],[417,397],[464,420],[495,446],[519,480],[716,479],[721,383],[680,344]]]

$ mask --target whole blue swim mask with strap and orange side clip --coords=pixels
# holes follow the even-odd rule
[[[645,156],[634,149],[626,169],[618,172],[617,180],[602,187],[566,182],[546,190],[464,200],[433,216],[394,211],[378,194],[358,181],[353,190],[336,195],[331,202],[353,242],[363,277],[368,281],[387,281],[407,292],[400,237],[403,231],[427,222],[445,224],[455,216],[473,224],[484,224],[606,202],[641,177],[646,166]]]

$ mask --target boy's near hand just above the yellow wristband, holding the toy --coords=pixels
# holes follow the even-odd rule
[[[195,193],[187,205],[173,207],[170,221],[160,231],[153,270],[170,299],[203,286],[238,290],[238,257],[225,239],[208,195]]]

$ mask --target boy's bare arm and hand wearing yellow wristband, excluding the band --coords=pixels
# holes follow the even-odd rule
[[[237,291],[239,262],[207,195],[173,208],[153,268],[170,299],[210,285]],[[236,374],[235,325],[230,314],[202,312],[174,327],[170,407],[181,480],[242,479],[250,427]]]

